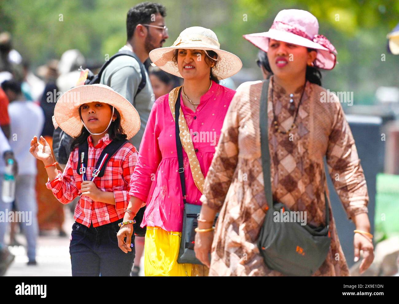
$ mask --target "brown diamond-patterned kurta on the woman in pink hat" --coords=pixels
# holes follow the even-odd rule
[[[272,81],[273,76],[267,119],[273,199],[292,211],[306,211],[308,224],[324,225],[326,156],[330,177],[348,219],[367,212],[363,170],[338,97],[331,93],[328,99],[324,88],[307,82],[296,128],[290,131],[291,135],[284,135],[271,128],[272,107],[283,131],[290,128],[294,111],[289,109],[289,93],[276,83],[272,101]],[[237,89],[206,176],[201,201],[220,211],[212,244],[211,276],[283,275],[265,265],[257,247],[267,209],[259,130],[261,89],[261,81],[244,83]],[[296,107],[302,90],[300,87],[294,92]],[[323,96],[326,98],[322,99]],[[330,203],[329,207],[330,252],[314,276],[348,276]]]

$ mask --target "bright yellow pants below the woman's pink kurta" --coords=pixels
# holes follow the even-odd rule
[[[191,276],[192,264],[179,264],[182,233],[147,227],[144,241],[145,276]]]

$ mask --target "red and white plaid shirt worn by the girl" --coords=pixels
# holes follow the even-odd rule
[[[89,155],[86,174],[89,178],[101,152],[111,140],[109,135],[105,134],[98,141],[97,146],[93,146],[91,136],[87,138],[87,141],[89,142]],[[78,154],[78,148],[76,147],[69,156],[64,172],[58,170],[57,177],[51,182],[48,179],[46,183],[47,188],[53,191],[55,197],[63,204],[70,203],[75,197],[82,194],[80,190],[82,176],[77,174],[76,171],[79,159]],[[133,174],[137,161],[138,153],[136,148],[130,142],[126,142],[110,158],[105,168],[104,176],[97,177],[94,180],[99,190],[114,193],[115,205],[93,201],[88,196],[81,196],[75,208],[74,219],[87,227],[90,227],[91,223],[93,223],[94,227],[98,227],[122,219],[130,199],[128,194],[130,176]]]

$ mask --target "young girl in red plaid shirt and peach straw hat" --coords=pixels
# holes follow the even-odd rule
[[[43,161],[49,176],[46,186],[61,203],[80,196],[69,245],[72,275],[128,276],[134,248],[127,255],[120,251],[117,232],[129,200],[130,176],[138,160],[136,148],[127,140],[138,132],[140,117],[110,87],[81,85],[59,98],[53,123],[74,137],[64,172],[55,167],[57,162],[43,136],[40,141],[34,136],[30,152]],[[110,152],[108,149],[113,146],[116,147]],[[109,155],[101,156],[104,149],[111,156],[105,165]]]

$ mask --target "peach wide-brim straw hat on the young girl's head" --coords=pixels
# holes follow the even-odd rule
[[[79,107],[91,102],[107,103],[118,110],[120,125],[127,139],[140,130],[140,116],[133,105],[107,85],[79,85],[61,95],[55,104],[53,124],[72,137],[77,137],[83,126]]]

